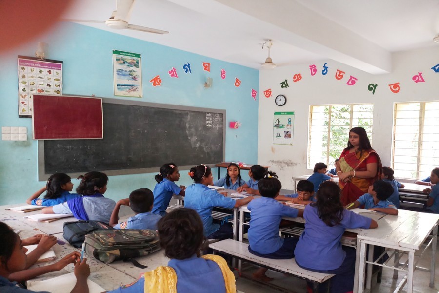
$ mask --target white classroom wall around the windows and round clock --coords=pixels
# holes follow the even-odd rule
[[[327,63],[328,73],[322,75]],[[295,66],[280,66],[274,70],[261,70],[259,78],[259,138],[258,162],[269,165],[278,172],[283,188],[292,188],[292,177],[311,174],[307,169],[308,120],[310,105],[373,103],[374,120],[372,146],[378,152],[384,166],[390,166],[392,150],[392,125],[395,102],[439,100],[439,73],[431,67],[439,63],[439,46],[432,46],[393,54],[393,70],[390,74],[371,75],[353,67],[332,60],[316,61]],[[317,74],[311,76],[309,65],[317,66]],[[337,80],[337,69],[344,71],[342,80]],[[425,83],[415,83],[414,75],[422,72]],[[301,74],[302,79],[293,82],[293,76]],[[350,76],[358,79],[354,85],[347,85]],[[288,88],[279,83],[288,80]],[[399,93],[392,93],[388,84],[400,83]],[[375,94],[367,90],[369,84],[378,84]],[[272,97],[266,98],[263,91],[272,89]],[[274,98],[284,94],[287,103],[277,106]],[[295,125],[293,145],[274,145],[273,112],[294,111]],[[346,142],[347,143],[347,142]],[[314,162],[317,163],[317,162]],[[313,163],[313,164],[314,164]],[[331,166],[332,167],[332,166]]]

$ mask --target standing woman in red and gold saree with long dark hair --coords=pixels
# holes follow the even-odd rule
[[[381,176],[381,159],[370,145],[366,130],[354,127],[349,131],[347,147],[337,165],[341,202],[347,205],[356,201]]]

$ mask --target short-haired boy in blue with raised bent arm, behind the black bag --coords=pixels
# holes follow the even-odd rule
[[[130,193],[129,198],[121,199],[116,203],[116,207],[110,217],[110,226],[115,229],[151,229],[157,230],[157,222],[161,219],[160,215],[151,213],[154,195],[148,188],[136,189]],[[120,206],[129,206],[136,215],[130,217],[128,221],[119,220]]]

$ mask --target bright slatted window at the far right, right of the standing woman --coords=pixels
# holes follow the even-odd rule
[[[439,101],[396,103],[392,168],[398,178],[425,178],[439,166]]]

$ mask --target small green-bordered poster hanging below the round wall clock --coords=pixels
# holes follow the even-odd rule
[[[294,112],[274,112],[273,144],[293,145]]]

